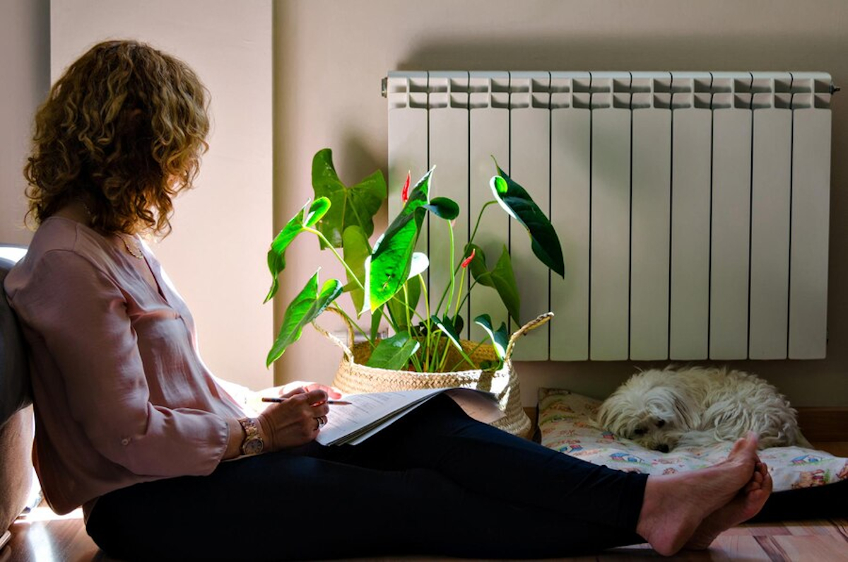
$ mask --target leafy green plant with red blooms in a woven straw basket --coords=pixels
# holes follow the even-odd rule
[[[564,264],[560,241],[547,216],[533,202],[527,191],[513,181],[505,171],[494,163],[494,176],[489,188],[493,194],[477,216],[474,232],[461,256],[451,250],[445,259],[447,271],[453,276],[444,280],[442,287],[427,287],[421,275],[429,267],[432,256],[416,251],[416,242],[424,220],[431,216],[430,228],[447,228],[453,240],[452,221],[459,214],[459,205],[445,197],[432,197],[430,183],[434,169],[427,171],[410,188],[410,177],[401,192],[404,206],[398,216],[371,247],[369,239],[373,233],[373,216],[386,199],[386,183],[380,171],[366,177],[352,187],[339,180],[332,164],[330,149],[322,149],[312,161],[312,185],[315,200],[306,205],[287,222],[277,234],[268,250],[268,268],[271,272],[271,289],[265,297],[270,301],[279,286],[279,277],[286,267],[286,250],[300,234],[314,235],[321,250],[327,250],[338,260],[346,272],[346,280],[329,279],[319,283],[319,272],[315,272],[297,296],[286,308],[279,334],[271,346],[266,364],[271,365],[300,338],[302,330],[314,323],[327,310],[342,316],[348,324],[350,341],[354,346],[354,333],[360,344],[354,353],[348,346],[330,336],[345,351],[346,359],[337,374],[336,383],[343,391],[363,391],[354,368],[361,367],[372,372],[385,371],[395,377],[418,377],[418,380],[395,383],[396,386],[421,388],[429,384],[455,385],[450,379],[436,378],[432,383],[422,383],[422,377],[439,373],[471,373],[471,379],[462,379],[460,384],[473,383],[491,386],[492,377],[505,374],[514,386],[511,400],[517,396],[515,375],[509,362],[511,347],[518,334],[546,322],[549,312],[527,323],[516,334],[507,334],[505,323],[498,328],[492,325],[488,314],[474,318],[482,326],[488,341],[469,342],[460,338],[465,319],[459,314],[461,305],[476,285],[490,287],[500,296],[510,318],[520,324],[520,301],[516,278],[512,271],[509,253],[504,247],[502,255],[493,267],[489,267],[483,251],[474,244],[477,226],[483,213],[497,206],[527,230],[533,254],[539,261],[562,276]],[[485,186],[482,186],[485,188]],[[451,244],[451,247],[453,244]],[[341,250],[341,253],[339,253]],[[466,276],[470,276],[466,287]],[[437,306],[419,306],[427,302],[427,293],[439,290]],[[349,293],[352,311],[343,310],[337,301],[343,293]],[[433,294],[436,295],[436,294]],[[388,324],[388,337],[379,337],[380,327]],[[326,332],[316,324],[315,328]],[[327,334],[329,335],[329,334]],[[488,374],[488,375],[487,375]],[[341,376],[341,379],[340,379]],[[359,379],[357,379],[359,376]],[[347,377],[347,380],[345,380]],[[485,381],[488,379],[488,383]],[[355,381],[354,384],[352,381]],[[344,388],[347,386],[348,388]],[[391,384],[389,385],[391,386]],[[365,391],[392,390],[386,385],[374,388],[365,385]],[[520,400],[519,400],[520,406]],[[523,412],[522,412],[523,413]]]

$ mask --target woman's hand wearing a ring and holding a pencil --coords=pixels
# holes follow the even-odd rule
[[[318,419],[326,416],[330,406],[326,391],[296,388],[282,395],[283,402],[271,404],[259,414],[259,430],[265,451],[298,447],[318,436]]]

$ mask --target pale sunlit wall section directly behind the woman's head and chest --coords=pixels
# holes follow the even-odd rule
[[[129,37],[187,62],[211,93],[209,152],[197,188],[175,201],[174,231],[153,250],[192,309],[212,371],[253,388],[265,369],[273,311],[271,0],[53,0],[51,79],[92,44]]]

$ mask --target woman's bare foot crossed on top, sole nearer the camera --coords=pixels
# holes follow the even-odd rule
[[[722,463],[694,472],[650,476],[636,532],[657,553],[665,556],[677,553],[708,516],[728,505],[755,480],[759,462],[756,444],[756,435],[749,433],[737,441]],[[717,515],[711,531],[722,521]],[[704,537],[706,534],[705,530]]]

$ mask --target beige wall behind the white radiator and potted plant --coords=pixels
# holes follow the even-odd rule
[[[821,70],[848,85],[848,3],[840,0],[277,0],[275,8],[277,228],[311,194],[315,150],[331,147],[348,182],[377,167],[386,171],[387,109],[379,87],[388,70]],[[764,374],[801,406],[848,406],[843,96],[833,104],[828,358],[734,363]],[[298,273],[287,273],[278,309],[330,261],[316,256],[312,240],[298,242],[291,260]],[[322,279],[330,275],[324,272]],[[278,376],[329,381],[339,358],[306,329]],[[538,385],[605,396],[635,366],[517,368],[529,405]]]

